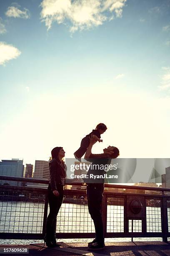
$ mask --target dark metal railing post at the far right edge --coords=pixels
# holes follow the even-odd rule
[[[164,195],[164,193],[163,193]],[[163,233],[163,242],[168,242],[168,212],[167,212],[167,199],[163,197],[161,200],[161,226],[162,226],[162,233]]]

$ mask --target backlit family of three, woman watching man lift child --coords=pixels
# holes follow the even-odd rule
[[[87,177],[95,172],[104,174],[105,170],[100,169],[100,165],[110,164],[112,159],[119,156],[119,150],[115,146],[108,146],[103,149],[101,154],[92,154],[92,146],[97,142],[102,142],[101,134],[107,130],[104,123],[99,123],[95,130],[82,138],[80,148],[75,151],[75,159],[81,161],[81,157],[85,154],[85,160],[91,162],[91,167],[87,172]],[[47,247],[59,246],[56,243],[56,223],[57,214],[60,210],[63,201],[63,187],[65,186],[65,178],[67,166],[62,158],[65,156],[65,151],[62,147],[55,147],[51,151],[52,160],[49,162],[50,168],[50,182],[47,189],[47,197],[50,206],[50,212],[46,220],[46,233],[44,237],[44,243]],[[98,169],[92,168],[92,166],[99,166]],[[105,247],[103,223],[101,214],[101,205],[104,191],[104,178],[95,180],[84,179],[87,185],[87,204],[90,216],[95,226],[95,239],[88,243],[88,250],[95,251],[101,250]]]

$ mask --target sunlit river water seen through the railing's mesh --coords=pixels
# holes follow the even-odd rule
[[[49,207],[48,207],[49,210]],[[169,208],[168,208],[169,211]],[[170,212],[170,211],[169,211]],[[42,233],[44,214],[43,203],[0,202],[0,232]],[[141,221],[133,223],[133,230],[141,232]],[[129,230],[132,221],[129,222]],[[107,205],[107,232],[123,232],[124,207]],[[147,207],[147,231],[161,232],[160,207]],[[93,233],[94,224],[87,205],[63,203],[57,216],[57,233]],[[89,242],[91,238],[57,239],[58,242]],[[105,238],[105,242],[131,241],[131,238]],[[134,241],[162,241],[162,238],[134,238]],[[1,239],[0,244],[43,243],[43,240]]]

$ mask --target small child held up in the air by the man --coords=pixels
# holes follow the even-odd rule
[[[80,148],[75,151],[74,153],[74,156],[75,156],[75,159],[77,159],[78,161],[81,161],[81,157],[85,154],[88,146],[89,146],[89,143],[90,143],[90,139],[89,139],[89,136],[92,134],[94,135],[95,139],[98,141],[98,142],[102,142],[102,140],[100,140],[100,134],[104,133],[105,131],[107,130],[107,127],[104,123],[99,123],[95,130],[92,130],[91,133],[87,134],[81,141],[81,144],[80,144]]]

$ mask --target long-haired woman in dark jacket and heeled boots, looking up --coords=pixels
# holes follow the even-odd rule
[[[62,160],[65,151],[62,147],[55,147],[51,151],[52,160],[49,162],[50,182],[47,189],[47,197],[50,205],[50,212],[46,220],[46,232],[44,244],[48,247],[58,246],[55,239],[57,214],[63,200],[63,186],[67,167]]]

